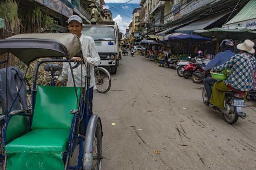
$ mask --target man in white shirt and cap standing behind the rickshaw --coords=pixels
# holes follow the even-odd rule
[[[94,66],[100,64],[100,56],[96,50],[96,45],[92,37],[85,36],[81,33],[83,30],[82,19],[79,16],[73,15],[68,19],[68,30],[70,33],[75,34],[80,38],[80,42],[82,45],[82,53],[84,63],[90,64],[90,109],[89,109],[89,118],[92,115],[92,98],[93,98],[93,89],[96,89],[96,83],[94,78]],[[80,61],[80,57],[74,57],[74,63],[71,63],[72,66],[75,65],[77,61]],[[81,78],[82,78],[82,87],[86,87],[85,84],[85,76],[86,76],[86,66],[85,64],[80,64],[77,68],[73,69],[75,83],[77,87],[81,87]],[[82,66],[82,75],[81,75],[81,66]],[[67,86],[74,86],[74,82],[72,79],[72,74],[70,70],[70,66],[67,62],[63,63],[63,69],[60,77],[56,81],[55,85],[58,86],[60,82],[68,78]],[[79,133],[81,135],[85,135],[85,116],[80,123]]]

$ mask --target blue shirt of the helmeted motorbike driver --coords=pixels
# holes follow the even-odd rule
[[[231,50],[226,50],[224,52],[220,52],[216,54],[216,56],[204,67],[204,70],[210,70],[214,68],[216,65],[220,66],[226,63],[232,56],[236,55],[232,53]]]

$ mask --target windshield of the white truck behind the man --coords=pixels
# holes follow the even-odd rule
[[[84,35],[90,36],[94,41],[115,41],[114,27],[108,26],[84,26]]]

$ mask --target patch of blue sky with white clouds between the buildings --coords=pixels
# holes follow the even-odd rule
[[[126,28],[129,28],[129,24],[132,21],[132,12],[134,8],[140,6],[140,0],[132,0],[126,4],[122,4],[127,1],[129,0],[104,0],[106,5],[103,6],[103,8],[107,8],[112,12],[113,21],[116,21],[120,32],[124,34]]]

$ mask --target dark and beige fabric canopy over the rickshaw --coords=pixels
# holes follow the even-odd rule
[[[8,51],[28,65],[43,57],[80,56],[79,37],[71,33],[29,33],[0,39],[0,55]]]

